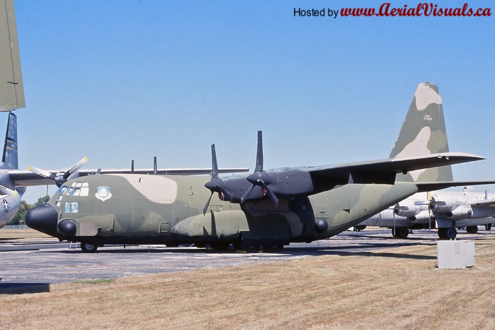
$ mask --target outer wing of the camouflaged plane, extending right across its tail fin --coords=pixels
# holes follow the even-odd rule
[[[416,169],[459,164],[485,158],[468,153],[448,152],[414,157],[398,157],[377,161],[308,167],[313,184],[321,181],[345,183],[394,184],[397,173]],[[349,177],[350,175],[350,177]],[[450,185],[451,186],[451,185]]]

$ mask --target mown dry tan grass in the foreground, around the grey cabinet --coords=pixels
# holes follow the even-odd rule
[[[475,242],[467,270],[421,245],[0,294],[0,329],[494,329],[495,238]]]

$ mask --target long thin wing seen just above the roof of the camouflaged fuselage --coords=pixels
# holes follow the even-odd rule
[[[219,168],[221,173],[238,173],[247,172],[248,168]],[[60,170],[48,170],[50,174],[56,175]],[[126,168],[99,168],[99,169],[80,169],[75,176],[86,176],[92,174],[153,174],[153,168],[136,168],[134,170]],[[157,174],[170,174],[170,175],[200,175],[200,174],[210,174],[211,168],[158,168]],[[28,187],[28,186],[40,186],[54,184],[53,179],[48,177],[43,177],[37,173],[31,172],[29,170],[19,170],[10,169],[8,171],[10,180],[14,182],[17,187]]]

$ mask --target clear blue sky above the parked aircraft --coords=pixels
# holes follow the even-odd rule
[[[252,169],[257,130],[265,167],[388,158],[428,80],[450,150],[488,158],[454,165],[454,179],[495,178],[495,14],[294,17],[295,7],[384,2],[374,0],[14,1],[20,168],[83,156],[88,168],[151,167],[153,156],[159,167],[209,167],[215,143],[220,166]]]

